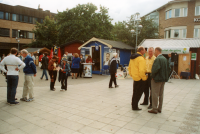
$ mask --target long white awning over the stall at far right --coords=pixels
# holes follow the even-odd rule
[[[145,48],[160,47],[163,49],[163,54],[172,52],[189,53],[190,48],[200,48],[199,38],[185,38],[185,39],[145,39],[139,46]]]

